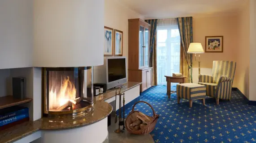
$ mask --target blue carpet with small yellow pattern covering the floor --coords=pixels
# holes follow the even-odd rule
[[[256,106],[247,105],[243,95],[236,91],[232,91],[231,101],[216,105],[215,99],[207,98],[205,106],[197,100],[192,108],[184,99],[178,105],[176,93],[168,99],[166,91],[166,86],[155,86],[141,94],[140,100],[150,103],[160,115],[151,132],[155,143],[256,142]],[[128,108],[125,114],[131,110],[132,107]],[[144,103],[138,104],[136,110],[152,116],[150,107]]]

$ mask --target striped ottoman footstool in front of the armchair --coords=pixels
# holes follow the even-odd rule
[[[193,100],[202,99],[205,105],[206,86],[201,84],[177,84],[177,102],[180,103],[181,98],[190,101],[190,108],[192,107]]]

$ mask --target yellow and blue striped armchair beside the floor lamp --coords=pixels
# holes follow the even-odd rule
[[[236,62],[232,61],[213,61],[212,76],[199,75],[199,84],[206,86],[206,95],[219,99],[230,100],[231,89],[234,79]]]

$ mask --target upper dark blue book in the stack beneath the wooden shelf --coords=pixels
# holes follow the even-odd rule
[[[28,114],[28,108],[25,107],[9,107],[6,109],[3,109],[0,112],[0,121],[14,117],[14,116],[18,116],[21,114]]]

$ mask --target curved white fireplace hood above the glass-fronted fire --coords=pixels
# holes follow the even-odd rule
[[[34,0],[33,8],[33,67],[104,63],[104,0]]]

